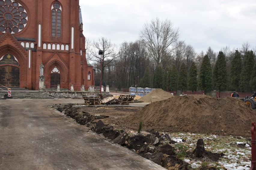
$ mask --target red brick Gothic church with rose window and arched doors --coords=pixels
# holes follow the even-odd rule
[[[79,0],[0,0],[0,84],[39,88],[94,85]],[[0,88],[2,87],[0,85]]]

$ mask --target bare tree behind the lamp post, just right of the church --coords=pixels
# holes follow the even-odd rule
[[[91,61],[95,61],[101,63],[102,72],[101,76],[104,81],[104,69],[107,66],[111,66],[114,62],[114,59],[118,57],[116,45],[112,44],[110,40],[102,37],[98,42],[93,41],[94,49],[91,51],[92,59]],[[103,55],[99,55],[99,50],[103,51]],[[99,68],[100,69],[100,68]]]

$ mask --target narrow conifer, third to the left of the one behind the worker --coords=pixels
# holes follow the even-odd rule
[[[195,62],[191,63],[189,69],[188,89],[193,92],[197,90],[197,66]]]

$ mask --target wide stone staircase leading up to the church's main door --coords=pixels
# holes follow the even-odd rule
[[[1,88],[1,89],[8,91],[7,88]],[[8,94],[8,92],[5,92],[5,91],[0,90],[0,97],[4,96],[5,94]],[[31,91],[25,88],[11,88],[11,97],[8,97],[7,99],[54,99],[54,98],[38,91]]]

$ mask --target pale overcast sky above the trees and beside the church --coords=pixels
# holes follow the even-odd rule
[[[210,46],[241,48],[243,42],[256,46],[255,0],[80,0],[84,36],[100,37],[113,44],[136,41],[139,30],[152,18],[170,19],[180,30],[180,40],[196,52]]]

